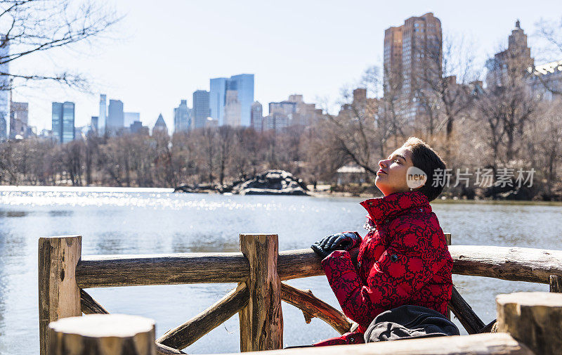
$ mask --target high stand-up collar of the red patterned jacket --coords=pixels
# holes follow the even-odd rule
[[[381,198],[370,198],[360,202],[367,209],[369,218],[377,226],[381,226],[387,219],[393,219],[406,209],[417,208],[420,212],[431,213],[431,206],[426,195],[419,191],[391,193]]]

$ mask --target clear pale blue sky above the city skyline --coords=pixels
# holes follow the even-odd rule
[[[106,0],[125,15],[105,38],[92,44],[14,63],[11,70],[79,70],[93,93],[52,84],[17,89],[14,101],[30,103],[30,124],[51,128],[51,102],[74,101],[76,125],[98,115],[99,93],[124,102],[154,124],[160,112],[169,127],[181,99],[209,89],[209,78],[256,75],[255,98],[264,106],[302,93],[307,102],[331,104],[342,86],[365,68],[380,65],[384,30],[405,18],[433,12],[443,34],[474,45],[478,63],[507,46],[516,19],[529,34],[535,23],[560,19],[558,1],[129,1]],[[384,3],[384,4],[381,4]],[[561,55],[562,57],[562,55]],[[543,62],[537,60],[538,63]],[[265,108],[267,112],[267,109]]]

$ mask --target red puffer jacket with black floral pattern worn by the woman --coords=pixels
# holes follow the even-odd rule
[[[359,328],[316,346],[362,343],[375,316],[403,304],[447,311],[452,258],[426,196],[419,191],[392,193],[361,205],[376,229],[363,238],[357,264],[345,250],[322,260],[341,309]]]

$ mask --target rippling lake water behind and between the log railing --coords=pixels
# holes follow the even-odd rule
[[[323,236],[357,230],[359,198],[174,194],[170,189],[35,188],[0,186],[0,354],[37,354],[37,240],[82,235],[82,254],[238,251],[239,233],[277,233],[280,250],[308,247]],[[487,202],[432,203],[453,244],[562,250],[562,206]],[[485,323],[495,318],[495,295],[547,291],[547,285],[454,276],[459,292]],[[329,304],[325,277],[289,281]],[[110,313],[156,321],[157,337],[195,316],[234,284],[89,289]],[[329,325],[282,304],[285,346],[336,336]],[[459,328],[462,328],[457,322]],[[186,349],[189,354],[240,351],[237,316]]]

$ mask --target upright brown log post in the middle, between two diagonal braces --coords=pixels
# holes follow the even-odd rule
[[[240,234],[249,262],[249,301],[240,310],[240,351],[282,349],[281,279],[277,275],[277,234]]]

